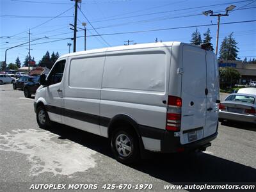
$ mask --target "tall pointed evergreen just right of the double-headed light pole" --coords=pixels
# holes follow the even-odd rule
[[[226,36],[223,39],[223,42],[221,43],[220,46],[220,56],[219,59],[223,59],[223,60],[236,60],[239,59],[237,57],[237,52],[238,52],[238,47],[236,46],[237,42],[236,40],[233,38],[233,32],[230,33],[230,35]]]

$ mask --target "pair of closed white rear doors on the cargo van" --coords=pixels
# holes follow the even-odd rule
[[[191,143],[216,132],[219,78],[216,56],[193,45],[183,46],[180,143]]]

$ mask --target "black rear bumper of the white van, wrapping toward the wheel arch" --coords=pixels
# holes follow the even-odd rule
[[[166,131],[163,129],[156,129],[153,127],[146,127],[141,125],[139,125],[139,129],[141,136],[160,140],[161,150],[159,152],[163,153],[174,153],[181,151],[189,152],[196,149],[204,150],[206,147],[211,145],[210,141],[214,140],[218,135],[217,127],[217,131],[211,136],[182,145],[180,143],[180,137],[174,136],[174,132],[172,131]]]

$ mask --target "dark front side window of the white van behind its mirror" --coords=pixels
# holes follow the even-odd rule
[[[56,84],[61,82],[64,68],[65,68],[65,63],[66,63],[66,60],[61,60],[54,65],[54,67],[51,70],[51,73],[49,74],[49,77],[47,78],[49,81],[49,84]]]

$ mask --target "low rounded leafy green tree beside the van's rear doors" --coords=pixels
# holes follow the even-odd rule
[[[236,68],[220,67],[220,79],[225,84],[230,84],[230,87],[240,79],[240,74]]]

